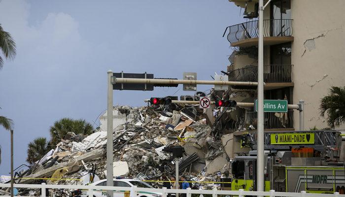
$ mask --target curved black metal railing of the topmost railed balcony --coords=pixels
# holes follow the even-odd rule
[[[264,20],[263,26],[264,37],[292,36],[292,19]],[[231,43],[250,38],[257,38],[259,35],[259,26],[257,20],[229,26],[225,29],[223,37],[228,29],[229,34],[227,37]]]

